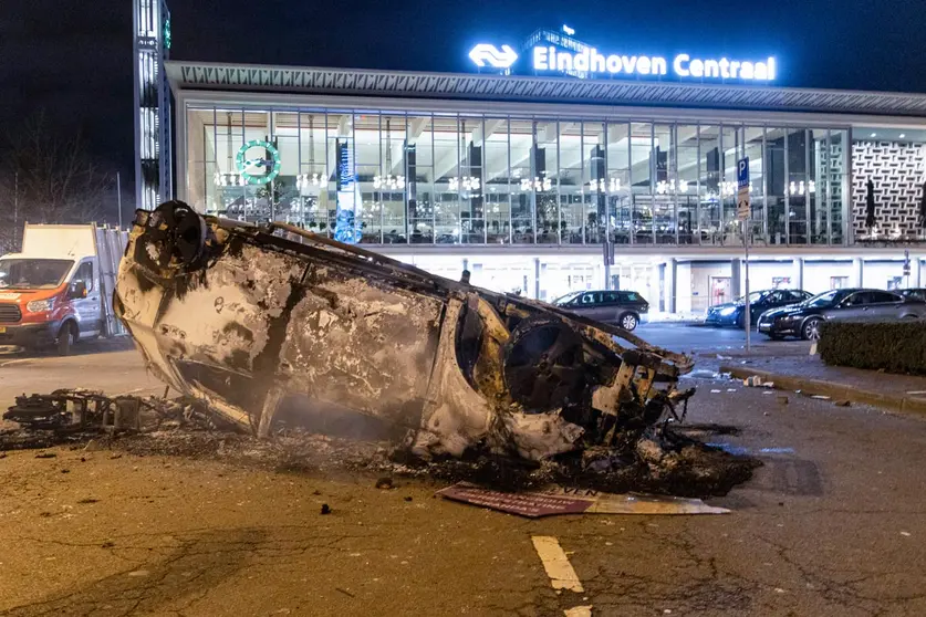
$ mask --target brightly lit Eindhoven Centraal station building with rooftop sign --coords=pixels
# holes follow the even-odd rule
[[[495,291],[696,313],[741,293],[748,157],[750,289],[926,283],[926,95],[604,48],[539,30],[452,74],[168,61],[173,192]]]

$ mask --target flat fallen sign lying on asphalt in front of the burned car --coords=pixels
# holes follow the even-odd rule
[[[529,519],[555,514],[728,514],[726,508],[699,499],[614,494],[553,487],[547,491],[510,493],[459,482],[437,491],[445,499],[481,505]]]

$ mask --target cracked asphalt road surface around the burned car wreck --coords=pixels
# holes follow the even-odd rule
[[[735,345],[732,331],[651,328],[678,349]],[[363,472],[7,452],[0,614],[926,615],[926,421],[686,383],[699,388],[688,422],[763,462],[708,500],[730,514],[527,520],[434,498],[443,484],[427,480],[378,490]],[[134,352],[0,362],[3,399],[82,384],[159,386]],[[538,536],[555,538],[581,592],[554,589],[563,563],[544,567]]]

